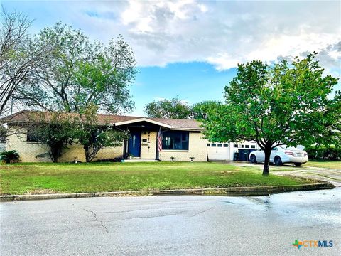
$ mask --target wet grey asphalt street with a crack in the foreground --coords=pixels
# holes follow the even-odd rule
[[[341,255],[341,188],[0,204],[0,255]],[[332,240],[332,247],[293,246]],[[308,243],[307,243],[308,245]]]

